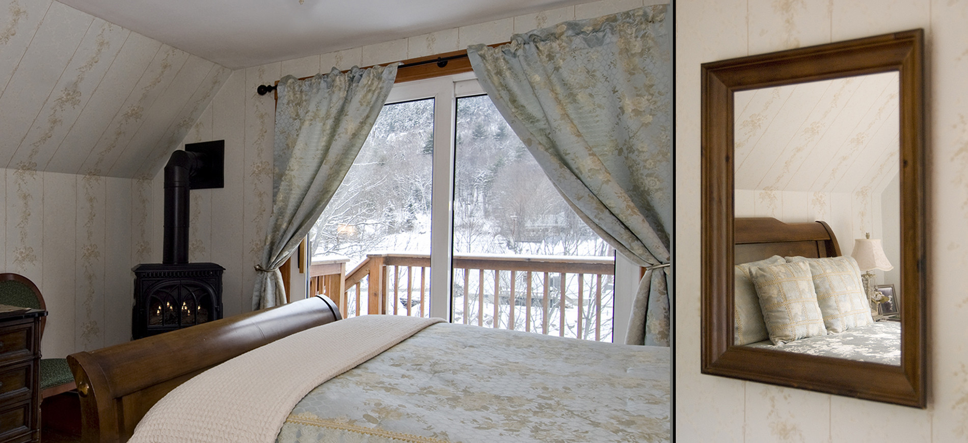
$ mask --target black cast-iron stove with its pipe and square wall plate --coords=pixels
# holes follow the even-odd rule
[[[142,338],[222,318],[222,272],[188,263],[189,191],[223,187],[225,141],[186,144],[165,166],[165,246],[161,264],[135,269],[132,336]]]

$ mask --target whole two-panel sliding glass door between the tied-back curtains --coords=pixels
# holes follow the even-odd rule
[[[394,86],[310,251],[311,289],[346,316],[612,340],[614,251],[471,73]]]

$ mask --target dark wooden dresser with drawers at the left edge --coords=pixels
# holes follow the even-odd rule
[[[0,304],[0,443],[40,441],[41,318]]]

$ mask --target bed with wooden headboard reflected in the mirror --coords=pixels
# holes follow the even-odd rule
[[[781,266],[802,262],[807,268],[819,262],[839,260],[845,267],[853,263],[853,259],[842,257],[837,239],[831,227],[823,222],[814,223],[783,223],[775,218],[737,218],[734,222],[736,248],[734,251],[735,298],[734,342],[742,346],[774,349],[785,352],[796,352],[816,356],[834,357],[854,361],[878,364],[900,364],[900,323],[877,322],[869,318],[869,306],[865,297],[854,305],[857,324],[849,327],[839,325],[839,329],[830,332],[814,332],[811,336],[795,337],[788,342],[775,343],[770,336],[765,339],[766,331],[760,330],[758,322],[764,322],[769,314],[764,312],[762,301],[757,303],[756,296],[750,296],[752,286],[744,277],[752,279],[749,269]],[[825,262],[826,261],[826,262]],[[810,263],[813,262],[813,263]],[[844,278],[860,284],[860,269],[854,269]],[[813,271],[816,284],[816,268]],[[747,287],[744,288],[744,285]],[[819,288],[820,286],[816,286]],[[756,287],[756,291],[759,291]],[[855,288],[856,289],[856,288]],[[862,287],[861,287],[862,290]],[[819,291],[819,290],[818,290]],[[818,294],[818,298],[823,298]],[[823,305],[823,301],[821,301]],[[847,308],[842,308],[847,310]],[[760,314],[757,317],[757,314]],[[826,309],[821,312],[823,321],[830,320]],[[866,316],[866,317],[864,317]]]

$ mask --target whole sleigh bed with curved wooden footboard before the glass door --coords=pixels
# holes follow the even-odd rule
[[[178,441],[182,429],[207,427],[211,421],[208,411],[220,409],[212,417],[223,416],[212,420],[238,423],[218,425],[221,430],[206,428],[201,433],[216,435],[208,441],[669,440],[668,348],[409,317],[364,316],[337,322],[339,319],[330,301],[314,298],[72,355],[69,360],[81,394],[83,439],[128,441],[141,423],[136,441],[156,426],[177,422],[160,432],[174,436],[170,441]],[[389,338],[395,332],[374,332],[372,340],[346,338],[360,336],[359,331],[380,331],[387,323],[400,323],[400,328],[416,332],[399,340]],[[320,325],[324,326],[315,328]],[[291,343],[298,340],[304,342],[302,347],[293,347]],[[374,345],[385,350],[357,351],[333,345],[368,340],[385,341]],[[260,347],[264,344],[269,345]],[[290,350],[281,351],[285,349]],[[282,354],[274,354],[277,352],[295,354],[280,360]],[[253,357],[259,353],[263,355]],[[250,357],[285,361],[286,374],[313,373],[305,368],[322,361],[327,367],[319,372],[328,373],[329,365],[351,369],[335,370],[338,373],[321,384],[315,382],[315,373],[279,377],[280,383],[292,386],[276,386],[258,394],[267,389],[260,386],[258,377],[271,372],[260,376],[258,370],[250,370],[255,365],[245,360]],[[253,372],[257,380],[233,378],[243,372]],[[217,387],[217,383],[225,386]],[[178,386],[181,388],[175,390]],[[235,392],[226,394],[228,400],[216,400],[208,398],[205,390]],[[294,398],[291,401],[282,399],[287,395],[275,394],[290,391],[298,391],[289,395]],[[262,420],[267,414],[256,410],[260,404],[211,405],[233,403],[238,396],[249,395],[267,398],[264,402],[287,403],[287,409],[269,414],[281,418]],[[192,396],[196,398],[184,399]],[[195,405],[209,400],[214,403]],[[179,418],[159,419],[167,413]],[[194,422],[181,423],[183,419]],[[164,438],[144,441],[156,440]]]

